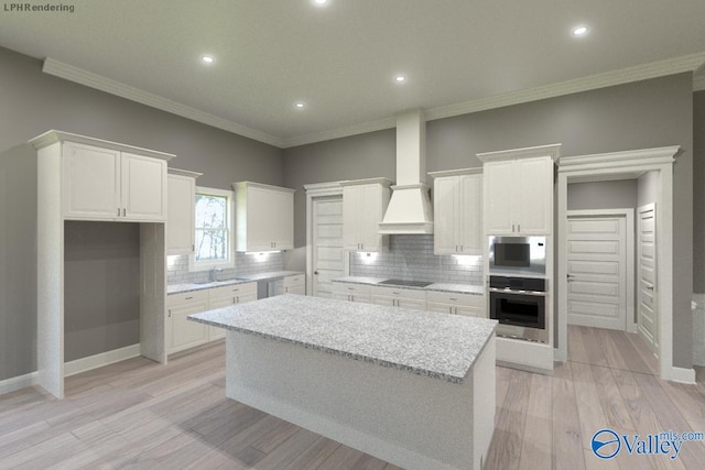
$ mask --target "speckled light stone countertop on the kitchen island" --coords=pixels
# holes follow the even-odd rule
[[[463,383],[496,320],[284,294],[188,319]]]

